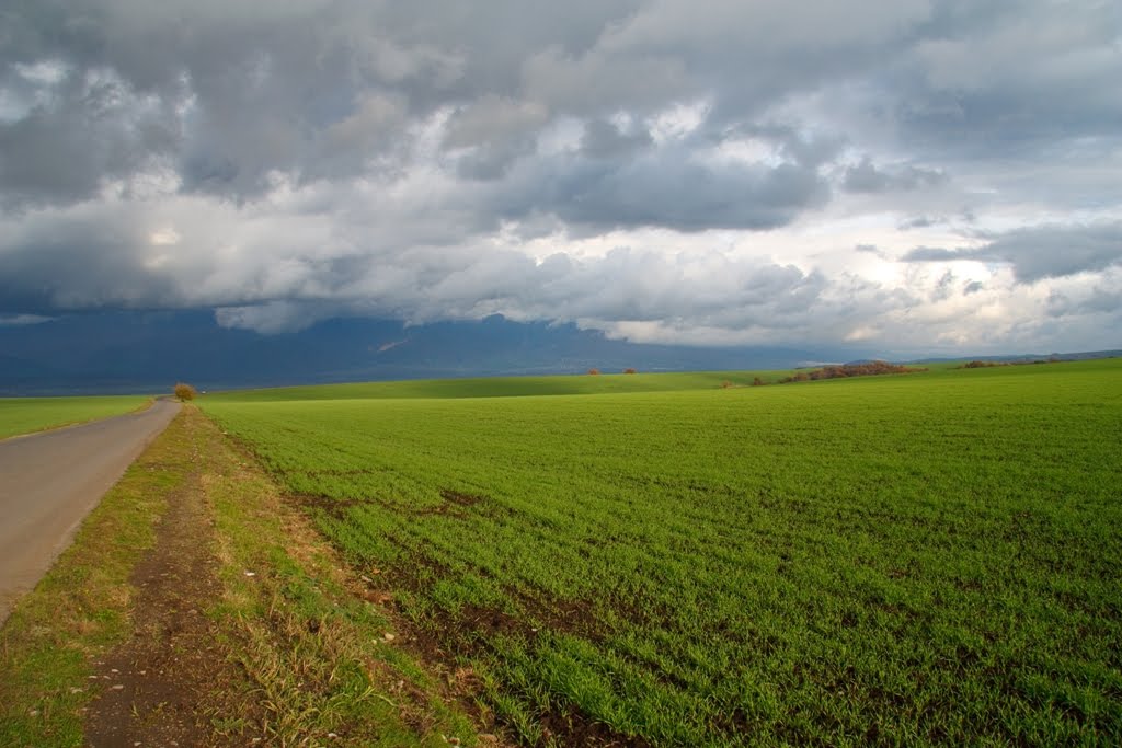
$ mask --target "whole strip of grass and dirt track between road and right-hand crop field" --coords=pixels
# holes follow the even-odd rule
[[[0,744],[503,745],[386,600],[188,406],[0,630]]]

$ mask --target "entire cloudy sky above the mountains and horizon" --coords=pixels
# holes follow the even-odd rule
[[[0,325],[1122,347],[1122,6],[0,0]]]

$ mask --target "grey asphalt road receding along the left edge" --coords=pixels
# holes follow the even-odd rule
[[[0,441],[0,624],[178,410],[156,400],[140,413]]]

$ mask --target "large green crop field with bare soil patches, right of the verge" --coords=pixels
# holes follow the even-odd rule
[[[526,744],[1122,742],[1122,361],[730,379],[202,405]]]

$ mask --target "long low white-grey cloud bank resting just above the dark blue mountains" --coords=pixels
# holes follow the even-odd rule
[[[298,251],[301,242],[328,234],[283,238],[282,227],[266,238],[276,243],[261,262],[254,247],[215,251],[205,236],[162,237],[139,218],[121,207],[112,215],[44,220],[3,237],[0,314],[213,306],[226,326],[274,333],[339,315],[426,322],[502,313],[606,330],[665,324],[683,340],[690,325],[703,324],[724,331],[726,342],[745,329],[813,333],[816,316],[850,314],[829,298],[831,284],[820,273],[721,252],[618,248],[604,257],[559,252],[535,261],[512,249],[379,250],[342,241],[312,258]],[[224,220],[214,216],[220,233]]]

